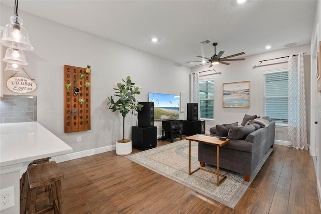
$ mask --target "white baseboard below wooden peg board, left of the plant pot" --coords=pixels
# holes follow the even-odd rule
[[[73,160],[73,159],[77,159],[77,158],[87,157],[90,155],[96,155],[96,154],[103,153],[103,152],[109,152],[109,151],[112,151],[115,149],[116,149],[116,145],[104,146],[104,147],[85,150],[85,151],[81,151],[81,152],[74,152],[74,153],[70,153],[70,154],[66,154],[66,155],[55,156],[55,157],[52,157],[52,160],[56,161],[57,163],[60,163],[60,162],[69,161],[69,160]]]

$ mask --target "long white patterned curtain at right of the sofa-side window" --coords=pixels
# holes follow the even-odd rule
[[[308,149],[306,134],[303,53],[288,60],[288,135],[289,146]]]

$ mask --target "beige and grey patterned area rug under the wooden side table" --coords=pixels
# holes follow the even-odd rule
[[[271,152],[272,149],[269,149],[261,163],[251,175],[249,182],[244,181],[244,176],[242,174],[220,168],[220,174],[227,176],[220,186],[216,186],[215,174],[204,170],[198,170],[192,175],[188,174],[188,140],[182,140],[165,146],[127,155],[126,158],[185,185],[196,192],[234,208]],[[198,143],[192,141],[191,171],[196,170],[199,166]],[[205,168],[216,172],[216,166],[206,164]]]

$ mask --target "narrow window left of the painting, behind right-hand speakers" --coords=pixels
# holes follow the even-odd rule
[[[214,119],[214,80],[200,80],[201,119]]]

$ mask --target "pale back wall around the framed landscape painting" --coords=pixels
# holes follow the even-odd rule
[[[297,54],[299,52],[306,53],[304,56],[304,70],[306,77],[309,79],[310,70],[310,46],[301,45],[292,48],[282,49],[278,51],[270,51],[263,54],[257,54],[245,57],[244,61],[232,61],[230,65],[214,65],[217,72],[221,74],[208,75],[209,72],[203,72],[200,75],[205,75],[202,78],[214,77],[214,118],[215,121],[206,121],[206,130],[217,124],[242,123],[244,114],[264,116],[264,81],[263,72],[269,70],[287,69],[287,58],[263,62],[259,67],[259,61],[266,59],[273,59],[290,54]],[[236,57],[237,58],[237,57]],[[242,55],[239,56],[242,58]],[[206,66],[199,66],[192,68],[192,72],[205,71],[211,68]],[[222,107],[222,84],[227,82],[250,81],[250,108],[223,108]],[[306,85],[309,88],[309,85]],[[309,100],[307,100],[309,101]],[[279,141],[288,141],[287,128],[276,127],[275,139]]]

